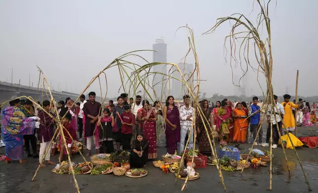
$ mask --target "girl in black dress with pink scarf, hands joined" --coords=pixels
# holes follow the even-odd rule
[[[99,130],[99,153],[113,153],[114,152],[114,137],[112,131],[112,125],[115,124],[115,119],[111,116],[111,112],[108,108],[103,111],[103,117],[97,126],[101,126]]]

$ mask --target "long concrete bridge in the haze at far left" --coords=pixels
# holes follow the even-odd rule
[[[23,86],[19,84],[11,84],[7,82],[0,82],[0,103],[10,100],[12,98],[16,98],[19,96],[32,96],[37,101],[47,100],[47,96],[45,91],[48,94],[48,90],[43,90],[43,99],[42,90],[34,87]],[[72,99],[76,99],[79,94],[70,93],[70,92],[58,92],[52,91],[51,93],[56,101],[65,100],[66,97],[71,97]],[[49,95],[49,94],[48,94]],[[4,107],[8,106],[8,104],[4,105]]]

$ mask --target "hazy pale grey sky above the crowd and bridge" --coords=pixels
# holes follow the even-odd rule
[[[101,69],[123,53],[152,49],[159,37],[167,43],[167,61],[179,63],[188,49],[186,24],[195,32],[201,89],[234,95],[231,67],[225,63],[223,43],[227,23],[215,33],[209,30],[216,18],[243,13],[255,22],[258,9],[250,14],[253,0],[1,0],[0,80],[29,85],[38,81],[38,64],[55,90],[80,92]],[[317,0],[278,0],[271,5],[273,84],[282,95],[286,87],[295,93],[296,70],[300,70],[299,94],[317,95]],[[265,31],[264,31],[265,34]],[[140,53],[152,62],[152,53]],[[140,60],[132,59],[135,62]],[[251,59],[252,62],[255,60]],[[190,58],[188,63],[194,63]],[[144,64],[144,63],[140,63]],[[255,65],[254,65],[255,66]],[[118,69],[106,71],[109,95],[118,96]],[[236,74],[241,74],[239,67]],[[8,77],[7,77],[8,76]],[[264,78],[260,78],[264,85]],[[249,96],[261,94],[256,74],[249,72]],[[105,86],[103,87],[103,89]],[[93,84],[89,91],[98,91]],[[104,89],[105,91],[105,89]],[[104,92],[103,91],[103,92]],[[121,92],[120,92],[121,93]]]

